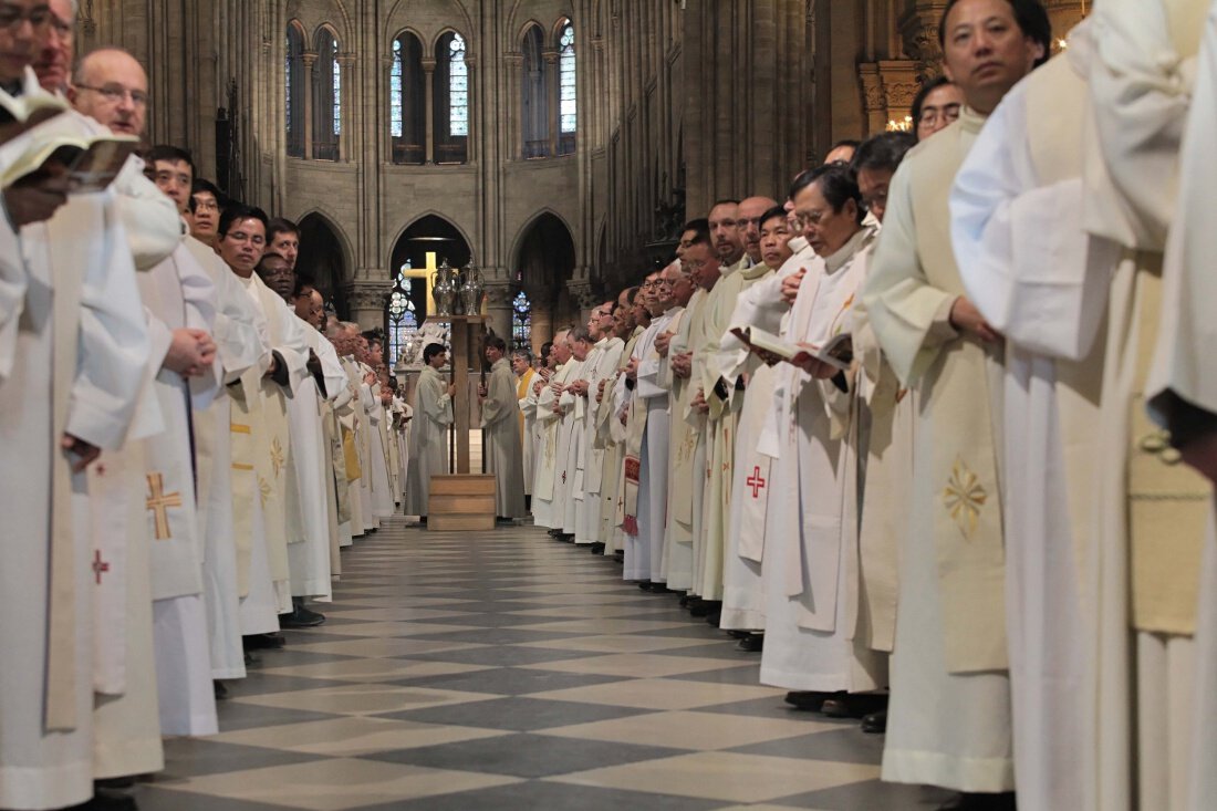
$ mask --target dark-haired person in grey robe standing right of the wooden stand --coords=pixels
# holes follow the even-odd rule
[[[489,379],[478,386],[482,404],[482,447],[486,471],[494,474],[495,516],[510,521],[525,515],[525,471],[520,453],[520,401],[511,364],[504,357],[507,343],[498,335],[486,340]]]

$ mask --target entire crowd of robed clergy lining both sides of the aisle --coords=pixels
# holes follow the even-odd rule
[[[0,93],[141,134],[147,77],[73,67],[74,5],[0,0]],[[486,341],[495,511],[886,732],[885,781],[1211,807],[1217,4],[1098,0],[1055,40],[1039,0],[948,0],[937,35],[915,132],[719,201],[535,360]],[[45,132],[6,125],[0,169]],[[338,549],[426,515],[453,423],[443,345],[411,409],[297,229],[189,153],[60,183],[0,218],[0,809],[129,804],[95,781],[215,732]]]

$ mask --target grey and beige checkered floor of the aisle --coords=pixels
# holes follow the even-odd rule
[[[329,621],[167,743],[145,811],[897,810],[882,738],[795,711],[759,654],[521,526],[402,518],[343,552]]]

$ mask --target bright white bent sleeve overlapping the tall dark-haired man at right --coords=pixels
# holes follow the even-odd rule
[[[1064,58],[1041,69],[1071,69]],[[1081,177],[1041,185],[1026,90],[1022,83],[1006,94],[955,177],[952,244],[968,298],[999,332],[1032,352],[1079,360],[1103,321],[1118,257],[1088,262]]]

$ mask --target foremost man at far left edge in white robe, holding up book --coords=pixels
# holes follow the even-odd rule
[[[51,26],[45,1],[0,0],[6,93],[40,93],[27,68]],[[54,127],[79,122],[65,113]],[[91,488],[84,472],[102,449],[124,443],[148,359],[113,191],[65,205],[52,174],[6,190],[0,218],[0,263],[19,263],[23,281],[21,320],[0,324],[0,807],[10,809],[92,795],[95,673],[82,653],[94,647],[94,587],[118,564],[95,556],[90,504],[73,492]]]

